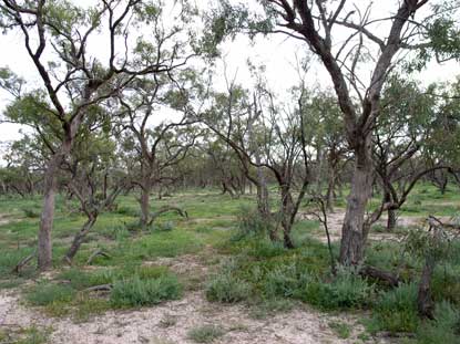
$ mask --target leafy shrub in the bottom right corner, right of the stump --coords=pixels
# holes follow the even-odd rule
[[[416,337],[420,344],[460,343],[460,311],[448,302],[437,304],[435,319],[420,326]]]

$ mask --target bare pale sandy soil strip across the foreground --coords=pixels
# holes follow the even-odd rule
[[[347,340],[329,329],[331,321],[355,327]],[[0,327],[51,329],[50,343],[55,344],[126,344],[193,343],[187,332],[204,324],[221,326],[226,333],[214,343],[232,344],[316,344],[356,343],[362,327],[349,315],[328,315],[309,309],[296,309],[265,320],[249,316],[243,305],[211,304],[200,292],[184,299],[134,312],[108,312],[86,323],[70,319],[49,319],[39,311],[24,307],[13,294],[0,294]],[[385,343],[371,340],[370,343]]]

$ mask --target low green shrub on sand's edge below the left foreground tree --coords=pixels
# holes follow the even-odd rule
[[[54,302],[70,302],[74,295],[75,290],[70,285],[40,283],[27,294],[27,300],[32,305],[48,305]]]

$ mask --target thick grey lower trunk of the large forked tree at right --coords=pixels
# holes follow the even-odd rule
[[[341,228],[340,258],[344,265],[359,264],[368,229],[365,228],[366,206],[372,191],[372,161],[370,135],[355,148],[355,173]]]

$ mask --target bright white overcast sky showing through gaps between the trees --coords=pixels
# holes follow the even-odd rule
[[[73,0],[76,2],[76,0]],[[78,3],[93,3],[95,0],[78,1]],[[206,2],[207,0],[198,0]],[[357,0],[349,1],[350,3],[367,4],[369,1]],[[374,10],[378,17],[385,17],[385,13],[393,12],[396,9],[395,0],[377,1],[377,8]],[[377,15],[377,14],[376,14]],[[340,29],[343,30],[343,29]],[[385,24],[377,28],[377,33],[387,32]],[[340,32],[336,37],[340,38]],[[28,56],[23,46],[22,35],[18,32],[9,32],[8,35],[0,35],[0,46],[2,53],[0,54],[0,66],[9,66],[20,76],[24,77],[31,87],[40,86],[41,80],[35,71],[30,58]],[[100,46],[100,45],[99,45]],[[99,46],[93,46],[95,50],[101,50]],[[228,42],[223,49],[226,55],[228,66],[228,74],[233,75],[238,71],[238,81],[247,82],[249,74],[246,66],[248,58],[253,62],[259,62],[266,65],[266,76],[275,92],[283,93],[289,86],[296,83],[297,74],[293,67],[295,55],[303,55],[307,51],[304,42],[294,39],[287,39],[285,35],[270,35],[267,38],[257,38],[255,44],[251,44],[245,37],[238,37],[235,41]],[[102,54],[102,51],[98,51]],[[365,71],[366,72],[366,71]],[[431,82],[450,81],[460,74],[458,63],[449,62],[443,65],[430,63],[428,69],[422,73],[416,75],[421,83],[428,84]],[[311,85],[320,85],[327,87],[330,85],[329,76],[319,63],[315,63],[309,72],[309,83]],[[215,77],[216,82],[223,84],[223,71]],[[0,92],[0,111],[8,104],[9,97],[4,92]],[[20,138],[20,126],[13,124],[0,124],[0,142],[13,140]]]

